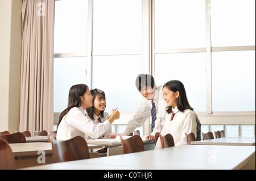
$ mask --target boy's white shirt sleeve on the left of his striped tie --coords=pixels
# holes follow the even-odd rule
[[[141,127],[148,119],[150,112],[151,108],[148,108],[148,106],[146,105],[146,103],[143,102],[142,99],[137,111],[133,115],[133,118],[128,122],[123,134],[129,135],[131,132],[134,131],[134,129]]]

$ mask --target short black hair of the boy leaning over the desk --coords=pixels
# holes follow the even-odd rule
[[[150,86],[152,89],[156,87],[154,77],[150,74],[139,74],[136,78],[135,85],[138,91],[141,91],[141,88],[144,86]]]

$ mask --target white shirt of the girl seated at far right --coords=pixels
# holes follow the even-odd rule
[[[181,112],[174,108],[174,119],[171,120],[172,113],[167,113],[166,120],[164,121],[163,129],[160,132],[162,136],[170,133],[174,138],[175,146],[179,145],[187,145],[187,138],[185,137],[185,133],[194,133],[196,135],[196,116],[195,112],[192,110],[185,110]],[[160,139],[156,142],[155,149],[162,148]]]

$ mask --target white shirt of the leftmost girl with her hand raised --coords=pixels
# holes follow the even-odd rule
[[[111,127],[110,122],[93,123],[82,107],[73,107],[61,120],[57,129],[57,140],[69,140],[76,136],[98,138]]]

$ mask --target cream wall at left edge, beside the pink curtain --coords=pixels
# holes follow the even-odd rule
[[[0,132],[18,131],[22,0],[0,0]]]

